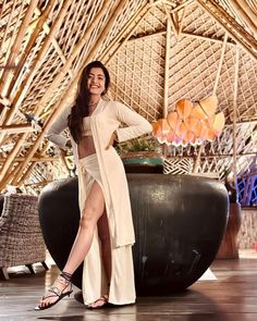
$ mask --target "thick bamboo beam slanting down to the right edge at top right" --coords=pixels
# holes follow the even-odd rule
[[[213,0],[197,0],[199,5],[208,12],[211,17],[227,30],[235,42],[248,52],[256,61],[257,53],[255,52],[255,48],[257,48],[257,41],[255,38],[246,33],[235,20],[232,20],[232,17],[228,15],[228,13],[220,5],[216,2],[212,3],[212,1]]]

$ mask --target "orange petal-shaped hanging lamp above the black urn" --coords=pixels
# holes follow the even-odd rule
[[[175,103],[175,111],[152,123],[152,135],[160,144],[174,146],[211,141],[220,135],[225,122],[223,112],[216,114],[217,107],[217,96],[209,96],[195,106],[181,99]]]

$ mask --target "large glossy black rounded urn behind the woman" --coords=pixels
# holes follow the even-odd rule
[[[228,220],[225,187],[197,176],[126,176],[136,233],[137,294],[185,289],[204,274],[218,252]],[[62,269],[78,227],[77,180],[47,185],[39,197],[39,215],[47,247]],[[73,280],[81,287],[82,267]]]

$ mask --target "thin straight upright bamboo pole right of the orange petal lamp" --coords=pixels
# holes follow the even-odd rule
[[[240,69],[240,50],[236,48],[235,52],[235,76],[234,76],[234,95],[233,95],[233,172],[234,172],[234,187],[237,190],[237,168],[236,168],[236,110],[237,110],[237,91],[238,91],[238,69]]]

